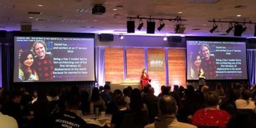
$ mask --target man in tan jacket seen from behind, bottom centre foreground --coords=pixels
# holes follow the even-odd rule
[[[158,111],[159,117],[156,118],[156,121],[150,125],[146,125],[145,128],[197,128],[195,125],[177,121],[175,117],[177,105],[172,96],[164,95],[159,99]]]

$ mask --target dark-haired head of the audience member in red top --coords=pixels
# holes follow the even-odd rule
[[[217,106],[220,101],[220,97],[217,92],[208,91],[205,93],[205,104],[208,107]]]

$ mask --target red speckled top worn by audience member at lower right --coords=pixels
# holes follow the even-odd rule
[[[225,128],[228,121],[230,121],[230,114],[224,110],[197,110],[193,115],[191,121],[193,125],[218,125],[220,128]]]

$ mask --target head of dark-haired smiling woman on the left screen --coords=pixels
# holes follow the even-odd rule
[[[22,67],[31,67],[34,63],[34,56],[32,51],[23,51],[20,53],[20,65]]]

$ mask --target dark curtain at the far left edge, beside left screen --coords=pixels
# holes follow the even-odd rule
[[[2,85],[5,90],[11,89],[13,81],[13,45],[2,44]]]

